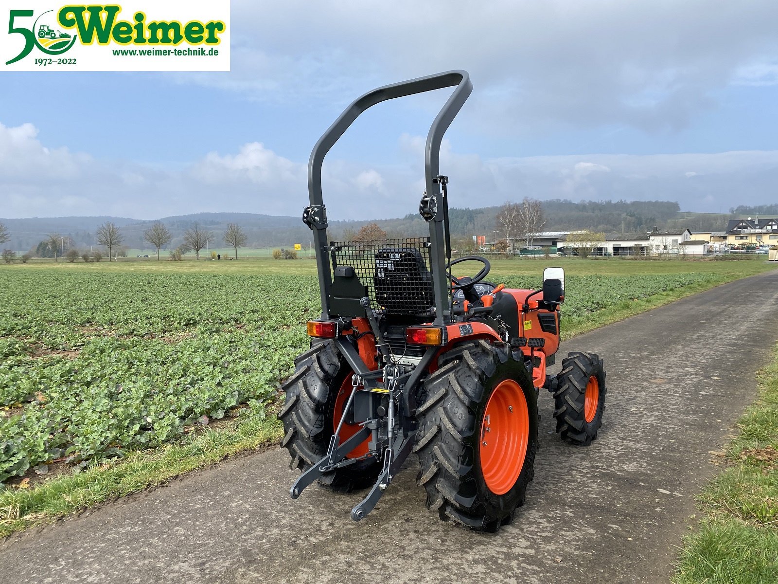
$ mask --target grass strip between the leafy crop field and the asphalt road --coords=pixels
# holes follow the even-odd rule
[[[745,262],[737,263],[746,266]],[[759,266],[755,262],[748,262],[748,269],[721,274],[720,280],[692,284],[636,301],[622,301],[615,307],[585,317],[566,319],[562,339],[570,339],[721,283],[769,269],[762,264],[766,262],[760,262]],[[533,266],[539,264],[533,262]],[[774,413],[773,417],[776,415]],[[265,417],[261,413],[254,413],[240,420],[226,422],[218,428],[206,428],[158,449],[130,452],[128,456],[110,463],[95,464],[81,473],[71,474],[68,471],[29,488],[5,488],[0,490],[0,537],[61,519],[114,498],[157,487],[240,452],[265,448],[279,442],[281,436],[281,425],[275,420],[275,414]]]

